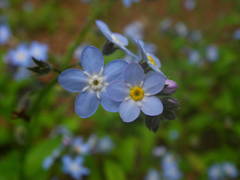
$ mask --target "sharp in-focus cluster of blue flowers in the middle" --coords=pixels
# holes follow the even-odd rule
[[[103,53],[94,46],[85,46],[79,58],[82,69],[67,69],[58,77],[64,89],[79,93],[75,112],[88,118],[101,104],[106,111],[119,112],[124,122],[136,120],[141,112],[150,117],[161,115],[162,96],[172,94],[177,84],[160,70],[160,60],[148,51],[142,40],[133,40],[138,48],[138,53],[133,53],[127,48],[126,37],[113,33],[103,21],[98,20],[96,24],[107,40]],[[109,55],[117,49],[131,59],[104,64],[103,54]]]

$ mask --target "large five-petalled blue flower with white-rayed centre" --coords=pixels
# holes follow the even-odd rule
[[[75,112],[82,118],[93,115],[99,104],[109,112],[117,112],[119,102],[109,99],[106,88],[122,76],[127,63],[123,60],[110,62],[104,68],[102,53],[93,46],[87,46],[81,55],[83,70],[67,69],[59,77],[60,85],[70,91],[80,93],[75,101]]]

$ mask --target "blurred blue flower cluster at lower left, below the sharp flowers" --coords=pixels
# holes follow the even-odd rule
[[[112,150],[114,144],[106,136],[97,138],[96,135],[85,141],[82,137],[74,137],[66,128],[58,128],[56,135],[62,135],[62,143],[53,150],[43,161],[43,168],[49,170],[60,162],[64,174],[73,179],[81,179],[87,176],[90,170],[84,166],[85,157],[95,153],[107,153]]]

